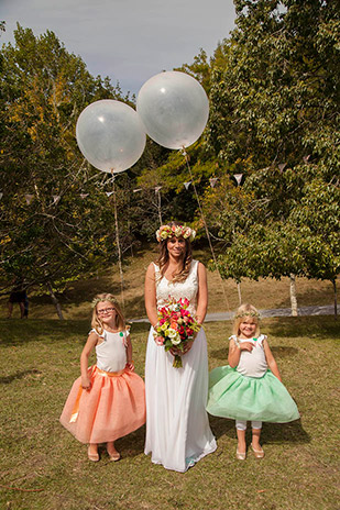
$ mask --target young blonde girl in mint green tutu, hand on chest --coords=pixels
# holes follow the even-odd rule
[[[262,458],[262,422],[286,423],[299,418],[296,403],[281,381],[267,339],[260,333],[259,321],[260,313],[252,304],[238,309],[229,339],[229,365],[209,375],[207,411],[235,420],[239,461],[246,456],[246,421],[252,422],[251,448],[256,458]]]

